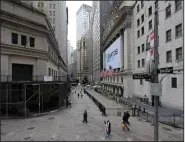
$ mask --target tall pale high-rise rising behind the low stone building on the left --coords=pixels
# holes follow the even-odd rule
[[[53,27],[60,54],[67,65],[68,8],[66,1],[24,1],[44,12]]]

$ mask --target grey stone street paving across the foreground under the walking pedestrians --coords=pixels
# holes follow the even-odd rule
[[[76,88],[77,92],[80,87]],[[141,118],[130,118],[130,131],[121,129],[121,117],[101,115],[98,107],[84,95],[71,95],[72,107],[42,117],[1,121],[2,141],[151,141],[153,126]],[[88,123],[82,123],[84,110]],[[112,122],[112,136],[105,137],[104,120]],[[183,140],[183,130],[159,125],[159,139]]]

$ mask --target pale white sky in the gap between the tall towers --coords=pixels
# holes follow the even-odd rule
[[[71,46],[76,49],[76,12],[82,4],[92,6],[92,1],[66,1],[68,7],[68,40]]]

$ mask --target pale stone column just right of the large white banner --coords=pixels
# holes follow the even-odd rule
[[[124,68],[124,31],[120,31],[120,68]]]

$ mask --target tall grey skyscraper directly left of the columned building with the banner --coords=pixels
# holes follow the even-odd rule
[[[111,1],[93,1],[92,6],[92,33],[93,33],[93,80],[100,81],[100,72],[103,69],[103,23],[110,14]]]

